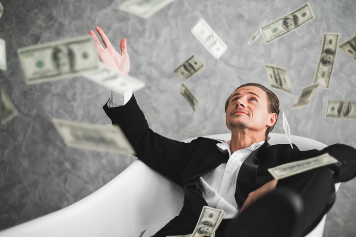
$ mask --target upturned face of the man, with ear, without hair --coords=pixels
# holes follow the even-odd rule
[[[265,134],[275,119],[276,114],[268,112],[267,93],[255,86],[237,89],[226,110],[226,126],[231,131],[248,129]]]

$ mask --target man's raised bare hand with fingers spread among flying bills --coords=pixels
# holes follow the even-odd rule
[[[126,39],[125,38],[121,39],[120,42],[121,54],[120,54],[111,45],[104,31],[99,26],[96,26],[95,29],[99,33],[101,40],[105,45],[105,49],[104,49],[98,37],[96,37],[94,31],[89,30],[89,34],[94,38],[96,51],[99,55],[100,60],[103,63],[109,65],[110,67],[118,69],[121,73],[128,75],[128,72],[130,71],[130,57],[127,53]]]

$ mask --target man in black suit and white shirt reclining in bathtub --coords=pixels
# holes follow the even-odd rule
[[[89,31],[100,59],[128,74],[126,39],[121,40],[119,54],[103,30],[96,30],[106,46]],[[322,151],[299,151],[289,144],[270,146],[268,133],[278,119],[279,101],[260,84],[241,85],[227,99],[226,125],[232,138],[224,143],[202,137],[184,143],[153,132],[132,93],[113,90],[104,110],[121,127],[139,159],[183,188],[182,210],[155,237],[191,234],[204,206],[226,212],[216,237],[303,236],[332,206],[334,183],[356,176],[352,147],[336,144]],[[341,161],[280,181],[267,171],[326,152]]]

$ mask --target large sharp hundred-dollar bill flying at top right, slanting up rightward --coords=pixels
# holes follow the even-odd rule
[[[266,26],[262,26],[261,30],[266,44],[289,34],[314,18],[314,13],[309,2],[307,2],[291,13],[268,23]]]

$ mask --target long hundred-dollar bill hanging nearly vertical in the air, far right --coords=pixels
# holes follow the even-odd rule
[[[338,39],[339,34],[337,33],[324,33],[322,51],[313,80],[313,83],[319,83],[319,88],[328,89],[330,87]]]

